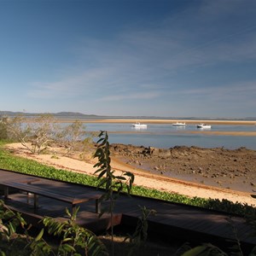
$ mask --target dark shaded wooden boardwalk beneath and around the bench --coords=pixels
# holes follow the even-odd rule
[[[1,181],[22,180],[26,177],[32,176],[0,169]],[[41,177],[33,185],[53,188],[58,193],[69,191],[70,195],[90,194],[96,191],[95,188],[90,186],[65,183]],[[103,191],[97,190],[97,193],[103,193]],[[65,207],[70,207],[70,205],[62,201],[40,196],[39,207],[34,209],[32,198],[28,197],[26,193],[20,192],[12,194],[11,200],[6,201],[6,203],[10,207],[15,207],[26,214],[35,223],[43,216],[66,218]],[[142,215],[138,206],[154,209],[157,212],[155,216],[148,218],[148,233],[159,234],[159,236],[172,236],[183,239],[183,241],[212,242],[216,245],[223,244],[224,247],[228,247],[230,242],[227,242],[227,240],[235,241],[235,234],[232,231],[233,225],[233,227],[236,227],[236,236],[241,241],[242,247],[250,250],[256,245],[256,238],[250,236],[252,227],[246,224],[243,218],[229,216],[223,212],[209,211],[199,207],[189,207],[139,196],[128,197],[121,195],[119,197],[114,208],[114,224],[135,227],[137,219]],[[229,224],[227,218],[231,219],[232,225]],[[95,202],[88,201],[80,204],[78,223],[97,232],[109,228],[110,218],[105,214],[103,214],[102,218],[98,218],[98,214],[95,212]]]

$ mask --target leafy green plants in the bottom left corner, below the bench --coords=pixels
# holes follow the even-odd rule
[[[106,247],[90,230],[75,224],[78,211],[79,208],[71,214],[66,209],[69,218],[64,222],[49,217],[43,219],[49,234],[60,238],[59,246],[50,247],[43,238],[44,228],[37,236],[29,236],[26,221],[20,213],[9,210],[0,201],[0,255],[108,255]],[[22,229],[20,233],[17,231],[19,227]]]

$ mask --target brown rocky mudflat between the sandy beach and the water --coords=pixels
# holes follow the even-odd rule
[[[164,177],[252,193],[256,190],[256,151],[247,148],[144,148],[113,144],[126,164]]]

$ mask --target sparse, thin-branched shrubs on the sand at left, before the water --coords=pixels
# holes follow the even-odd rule
[[[68,142],[69,150],[73,150],[78,142],[84,140],[82,145],[85,147],[87,143],[91,142],[91,137],[94,136],[92,133],[85,137],[85,126],[81,121],[75,120],[73,124],[61,126],[50,114],[42,114],[31,119],[20,115],[7,120],[3,124],[6,131],[9,131],[8,138],[20,142],[32,154],[41,154],[53,142]]]

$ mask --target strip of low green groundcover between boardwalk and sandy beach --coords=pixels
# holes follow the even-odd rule
[[[45,166],[35,160],[15,156],[3,148],[5,143],[0,141],[0,168],[15,172],[25,173],[38,177],[47,177],[71,183],[79,183],[96,187],[97,178],[89,175],[69,172],[66,170],[55,169],[51,166]],[[256,216],[256,208],[247,204],[233,203],[223,200],[207,200],[199,197],[190,198],[185,195],[162,192],[156,189],[146,189],[139,186],[133,186],[132,195],[140,195],[149,198],[172,201],[195,207],[205,207],[207,209],[235,213],[241,216]]]

